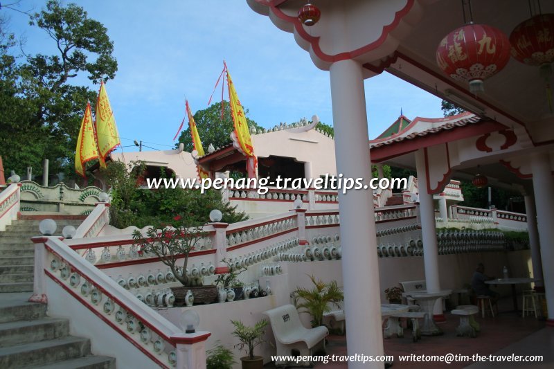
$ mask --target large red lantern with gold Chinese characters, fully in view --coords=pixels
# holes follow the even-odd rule
[[[454,80],[470,82],[470,91],[484,91],[483,80],[501,71],[510,60],[510,40],[501,30],[485,24],[456,28],[436,52],[440,69]]]

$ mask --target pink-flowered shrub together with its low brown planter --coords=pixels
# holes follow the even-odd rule
[[[195,303],[212,303],[217,300],[215,286],[192,287],[193,278],[187,276],[188,255],[195,251],[199,242],[206,236],[201,226],[183,222],[180,216],[174,218],[172,226],[158,224],[148,228],[145,235],[138,229],[133,232],[134,244],[143,254],[156,255],[172,271],[180,287],[171,287],[177,305],[184,303],[185,295],[193,291]]]

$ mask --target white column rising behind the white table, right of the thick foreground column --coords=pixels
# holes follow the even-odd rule
[[[423,262],[425,267],[425,285],[427,291],[440,291],[440,280],[438,279],[438,246],[435,226],[435,207],[433,195],[427,192],[427,168],[425,165],[425,154],[423,149],[415,152],[415,166],[418,170],[418,188],[420,194],[420,219],[423,241]],[[440,299],[433,309],[436,320],[440,321],[443,315],[443,304]]]

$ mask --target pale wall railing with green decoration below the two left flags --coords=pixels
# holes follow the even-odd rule
[[[88,215],[101,192],[94,186],[76,189],[58,183],[44,187],[33,181],[21,181],[21,210]]]

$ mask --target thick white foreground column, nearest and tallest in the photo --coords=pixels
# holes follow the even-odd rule
[[[361,64],[353,60],[330,67],[337,175],[371,179],[368,123]],[[383,354],[381,295],[377,238],[373,213],[373,191],[339,191],[341,217],[342,274],[346,304],[348,355]],[[359,283],[364,281],[364,293]],[[369,365],[368,365],[369,364]],[[382,368],[383,363],[350,362],[348,368]]]

